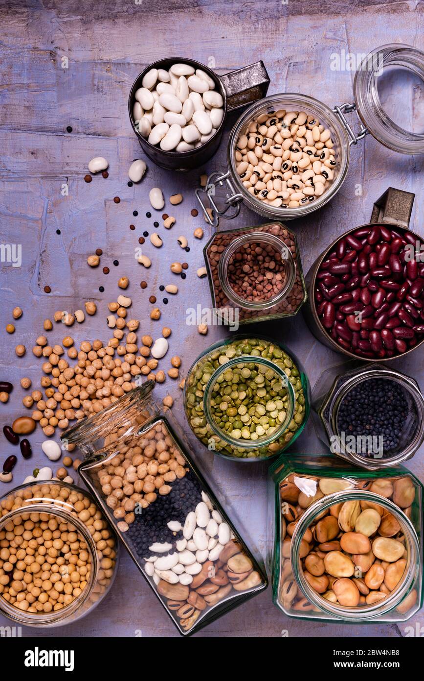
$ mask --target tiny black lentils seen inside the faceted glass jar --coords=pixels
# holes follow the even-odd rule
[[[346,437],[383,437],[382,454],[387,458],[400,447],[409,413],[404,388],[390,379],[368,379],[353,387],[340,403],[337,430]],[[376,452],[357,454],[372,458]]]

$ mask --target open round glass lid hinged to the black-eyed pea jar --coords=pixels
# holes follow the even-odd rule
[[[404,129],[387,114],[378,92],[383,72],[397,67],[407,69],[424,83],[424,52],[410,45],[390,44],[372,50],[359,65],[353,94],[359,118],[370,134],[392,151],[402,154],[424,153],[424,131]]]

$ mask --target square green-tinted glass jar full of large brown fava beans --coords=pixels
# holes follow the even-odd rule
[[[270,468],[273,601],[295,618],[402,622],[423,605],[423,486],[333,456]]]

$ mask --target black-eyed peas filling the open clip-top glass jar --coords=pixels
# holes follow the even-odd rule
[[[237,174],[256,199],[299,208],[332,184],[338,159],[331,131],[305,111],[260,114],[242,131],[234,151]]]

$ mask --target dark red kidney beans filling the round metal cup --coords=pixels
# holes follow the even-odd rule
[[[424,337],[424,264],[407,229],[362,227],[343,236],[319,266],[314,285],[321,324],[360,358],[402,355]]]

